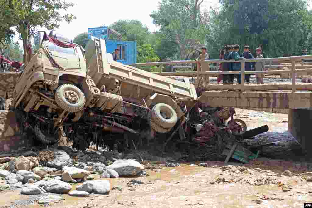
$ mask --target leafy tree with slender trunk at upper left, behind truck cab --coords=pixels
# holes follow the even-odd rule
[[[67,13],[66,10],[73,6],[73,3],[66,1],[46,1],[46,0],[0,0],[1,11],[0,20],[3,24],[4,32],[0,33],[2,41],[11,42],[13,34],[10,30],[14,27],[20,35],[24,49],[24,63],[27,64],[28,35],[30,31],[36,31],[37,27],[44,27],[48,30],[59,27],[59,23],[66,21],[70,23],[76,17]],[[64,14],[63,14],[64,13]]]

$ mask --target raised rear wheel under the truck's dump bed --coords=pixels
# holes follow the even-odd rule
[[[167,104],[158,103],[152,111],[152,121],[159,127],[172,128],[178,121],[178,116],[175,110]]]

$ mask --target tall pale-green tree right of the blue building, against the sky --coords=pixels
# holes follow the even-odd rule
[[[163,38],[177,44],[179,58],[205,44],[209,34],[209,13],[201,9],[203,0],[162,0],[150,16],[160,26]],[[166,43],[163,42],[165,45]]]

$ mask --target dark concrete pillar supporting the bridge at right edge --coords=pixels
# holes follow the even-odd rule
[[[289,109],[288,132],[302,145],[304,149],[312,147],[312,110]]]

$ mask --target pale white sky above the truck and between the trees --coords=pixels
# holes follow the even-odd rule
[[[120,19],[135,19],[146,25],[151,32],[158,28],[153,24],[149,16],[157,10],[160,0],[69,0],[75,4],[68,12],[76,16],[76,20],[70,24],[61,22],[56,30],[58,33],[67,36],[69,39],[80,33],[87,32],[88,28],[109,26]],[[209,8],[217,5],[218,0],[204,0],[203,6]],[[14,41],[18,36],[14,37]],[[20,43],[20,45],[22,45]]]

